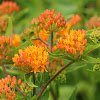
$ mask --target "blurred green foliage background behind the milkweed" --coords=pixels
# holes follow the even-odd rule
[[[0,0],[0,3],[3,0]],[[13,25],[15,32],[21,34],[24,28],[30,26],[30,21],[33,17],[38,17],[46,9],[55,9],[56,13],[61,12],[67,19],[67,16],[79,14],[82,17],[81,29],[85,28],[85,23],[91,16],[100,15],[100,0],[12,0],[16,1],[21,7],[21,11],[16,16]],[[75,29],[75,28],[74,28]],[[96,52],[96,53],[95,53]],[[97,49],[92,54],[94,57],[100,56],[100,50]],[[74,67],[78,64],[73,65]],[[55,82],[52,83],[54,91],[59,96],[59,100],[69,100],[73,91],[76,91],[76,100],[100,100],[100,72],[91,72],[94,65],[86,64],[73,72],[66,74],[66,81],[60,84],[59,92],[56,92]],[[0,70],[2,70],[0,68]],[[24,74],[17,70],[17,68],[10,69],[8,73],[16,75],[23,80]],[[5,77],[4,73],[0,71],[0,78]],[[50,93],[49,99],[53,100]],[[71,99],[70,99],[71,100]]]

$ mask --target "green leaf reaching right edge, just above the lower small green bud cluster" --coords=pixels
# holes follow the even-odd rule
[[[85,61],[86,63],[100,63],[99,58],[93,58],[91,56],[82,56],[82,60]]]

